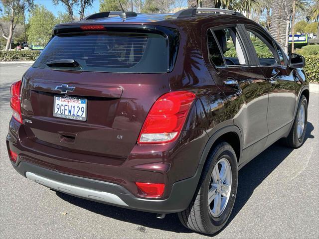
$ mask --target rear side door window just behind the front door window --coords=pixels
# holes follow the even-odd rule
[[[246,58],[235,28],[208,29],[209,58],[215,66],[246,65]]]

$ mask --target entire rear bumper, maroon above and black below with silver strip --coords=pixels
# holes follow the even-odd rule
[[[104,158],[66,152],[37,143],[11,119],[6,137],[8,150],[18,154],[12,166],[24,177],[73,196],[153,213],[174,213],[186,209],[194,195],[202,165],[199,158],[206,140],[202,134],[179,147],[167,145],[134,148],[119,166]],[[189,135],[185,133],[185,138]],[[194,150],[197,149],[197,150]],[[199,150],[198,150],[199,149]],[[163,197],[148,199],[139,194],[135,182],[165,183]]]

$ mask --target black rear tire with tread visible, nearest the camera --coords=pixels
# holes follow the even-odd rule
[[[225,206],[223,211],[220,211],[220,215],[213,216],[211,205],[215,204],[215,201],[213,200],[211,205],[208,204],[208,190],[211,190],[213,187],[211,186],[211,180],[213,180],[214,177],[212,172],[217,163],[217,167],[221,165],[219,162],[225,164],[227,164],[227,162],[229,163],[228,165],[231,168],[231,172],[228,172],[227,175],[231,175],[231,186],[228,201],[224,203]],[[222,169],[223,168],[220,169],[220,179],[222,179]],[[237,193],[237,184],[238,165],[236,154],[230,144],[221,142],[216,145],[208,155],[197,190],[188,208],[185,211],[178,213],[178,218],[182,225],[190,230],[203,234],[215,234],[220,231],[225,226],[232,212]],[[217,188],[218,187],[216,187],[216,192],[218,190]]]

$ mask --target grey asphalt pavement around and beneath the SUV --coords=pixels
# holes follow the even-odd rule
[[[50,191],[20,176],[5,146],[9,91],[30,66],[0,64],[1,239],[207,238],[185,229],[176,214],[160,220]],[[239,171],[233,213],[214,238],[319,238],[319,93],[310,95],[308,121],[302,147],[275,143]]]

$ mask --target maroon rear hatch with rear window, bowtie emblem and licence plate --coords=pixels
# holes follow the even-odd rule
[[[55,35],[23,79],[28,138],[120,165],[154,102],[169,92],[167,43],[152,32]],[[64,59],[78,66],[47,65]]]

